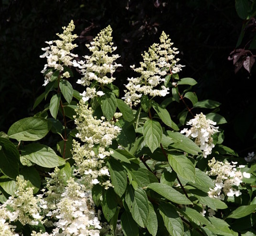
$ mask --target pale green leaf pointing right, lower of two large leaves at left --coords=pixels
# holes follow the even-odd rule
[[[21,156],[41,167],[59,167],[66,163],[63,158],[56,155],[51,147],[39,143],[24,146]]]

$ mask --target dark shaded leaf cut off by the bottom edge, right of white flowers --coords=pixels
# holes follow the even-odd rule
[[[127,211],[121,216],[121,226],[125,236],[139,236],[138,225]]]

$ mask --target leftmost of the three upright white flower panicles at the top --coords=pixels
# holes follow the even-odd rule
[[[64,66],[72,66],[73,62],[72,60],[74,57],[77,57],[77,55],[74,55],[71,53],[71,51],[77,47],[76,44],[73,44],[72,42],[77,38],[76,34],[72,34],[72,31],[75,30],[75,25],[73,20],[68,24],[67,27],[63,27],[63,33],[58,34],[57,36],[60,38],[58,40],[53,41],[46,41],[46,43],[49,45],[46,48],[43,48],[42,50],[45,51],[43,55],[41,55],[41,58],[47,58],[47,64],[44,65],[42,73],[45,73],[47,69],[53,69],[58,71],[63,71]],[[53,70],[49,71],[44,76],[44,86],[47,85],[51,81],[51,77],[53,75]],[[70,74],[68,71],[64,72],[62,77],[69,78]]]

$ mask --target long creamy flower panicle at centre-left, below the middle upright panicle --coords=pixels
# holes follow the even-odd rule
[[[76,109],[75,124],[77,125],[77,138],[84,143],[73,143],[73,159],[78,167],[76,172],[82,176],[88,188],[100,183],[98,177],[109,177],[109,172],[104,158],[110,156],[107,146],[117,138],[121,128],[105,121],[105,118],[97,119],[93,116],[93,110],[81,100]],[[101,183],[106,188],[111,186],[109,180]]]

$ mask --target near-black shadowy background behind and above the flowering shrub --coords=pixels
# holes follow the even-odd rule
[[[132,76],[140,54],[159,41],[164,30],[180,51],[180,78],[192,77],[199,100],[222,103],[219,114],[228,124],[224,144],[241,157],[256,151],[255,67],[234,73],[229,53],[235,49],[243,20],[234,0],[1,0],[0,1],[0,131],[15,121],[33,116],[35,98],[43,91],[46,63],[40,59],[46,40],[56,39],[70,20],[75,22],[76,43],[84,55],[85,43],[111,25],[118,63],[118,87]],[[76,87],[77,78],[70,79]],[[79,88],[77,88],[79,89]],[[81,90],[81,89],[79,89]],[[205,113],[210,110],[203,110]],[[174,117],[175,118],[175,117]]]

